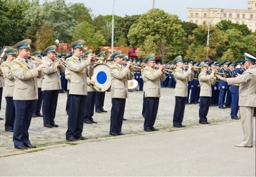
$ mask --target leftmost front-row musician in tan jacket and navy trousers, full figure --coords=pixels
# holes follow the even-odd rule
[[[31,40],[26,39],[14,45],[18,49],[18,57],[11,62],[14,74],[13,100],[15,106],[15,121],[13,142],[17,149],[35,148],[28,139],[35,100],[38,99],[37,78],[42,77],[44,65],[36,65],[27,60],[30,54]]]

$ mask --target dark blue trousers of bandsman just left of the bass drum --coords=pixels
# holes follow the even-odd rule
[[[93,120],[96,91],[88,91],[86,98],[86,109],[84,121]]]

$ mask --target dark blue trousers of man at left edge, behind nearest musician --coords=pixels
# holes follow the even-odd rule
[[[13,130],[15,120],[15,107],[13,97],[6,97],[5,129]]]

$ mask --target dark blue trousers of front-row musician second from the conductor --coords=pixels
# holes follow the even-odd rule
[[[175,96],[175,108],[173,124],[175,126],[182,125],[185,111],[186,97]]]

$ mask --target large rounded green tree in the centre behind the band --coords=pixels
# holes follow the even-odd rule
[[[181,20],[176,15],[170,15],[160,9],[149,10],[142,14],[131,26],[128,39],[131,45],[139,47],[144,44],[147,37],[152,37],[152,43],[156,46],[159,41],[165,40],[170,57],[184,54],[187,49],[185,32]]]

